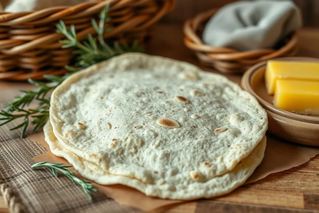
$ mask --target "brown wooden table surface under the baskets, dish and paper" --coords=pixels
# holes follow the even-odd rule
[[[180,25],[157,25],[148,53],[188,61],[199,65],[182,43]],[[300,32],[299,56],[319,57],[319,29]],[[207,69],[206,69],[207,70]],[[212,71],[214,72],[214,71]],[[240,76],[227,76],[239,81]],[[0,82],[0,88],[29,87],[27,83]],[[0,198],[0,212],[8,212]],[[216,198],[181,204],[170,213],[297,213],[319,212],[319,156],[287,171],[271,174],[256,183],[242,186],[233,193]]]

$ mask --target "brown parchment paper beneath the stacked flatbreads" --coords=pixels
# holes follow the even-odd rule
[[[245,184],[263,179],[271,173],[284,171],[304,164],[309,161],[310,158],[319,154],[319,148],[290,143],[283,141],[282,139],[278,139],[270,134],[267,134],[266,136],[267,146],[263,161]],[[27,138],[48,148],[48,144],[44,140],[43,132],[30,135]],[[48,161],[52,163],[69,164],[64,158],[57,157],[50,151],[35,156],[33,159],[36,162]],[[72,169],[73,168],[71,168],[71,170]],[[78,176],[80,177],[79,174]],[[116,202],[122,205],[138,208],[143,211],[155,211],[156,209],[184,202],[148,197],[136,189],[122,185],[102,186],[94,183],[94,186],[100,192],[104,193],[107,197],[114,199]]]

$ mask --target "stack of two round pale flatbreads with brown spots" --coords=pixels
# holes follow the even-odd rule
[[[44,133],[88,179],[190,200],[241,186],[263,159],[267,124],[256,99],[225,77],[129,53],[57,87]]]

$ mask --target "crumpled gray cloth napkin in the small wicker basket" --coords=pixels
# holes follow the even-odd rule
[[[300,9],[289,0],[240,1],[211,17],[203,41],[239,51],[270,49],[301,26]]]

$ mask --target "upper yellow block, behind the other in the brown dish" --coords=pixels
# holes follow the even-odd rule
[[[275,91],[278,79],[300,79],[319,82],[319,63],[302,61],[268,61],[265,82],[268,94]]]

